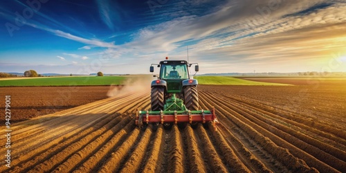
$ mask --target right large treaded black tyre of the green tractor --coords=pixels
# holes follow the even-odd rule
[[[185,107],[190,111],[199,110],[198,93],[196,86],[186,86],[184,90]]]

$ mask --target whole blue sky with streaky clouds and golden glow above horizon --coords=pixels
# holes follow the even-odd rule
[[[168,56],[200,73],[346,71],[346,1],[4,0],[0,71],[149,73]]]

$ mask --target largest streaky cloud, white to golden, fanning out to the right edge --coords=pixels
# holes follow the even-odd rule
[[[200,60],[215,55],[213,58],[218,60],[215,63],[246,62],[251,58],[271,62],[288,57],[312,60],[342,48],[333,43],[333,38],[343,37],[346,3],[322,0],[276,3],[229,1],[208,15],[177,17],[147,26],[125,46],[142,53],[183,50],[185,54],[185,48],[181,47],[190,45],[191,52],[199,55]],[[323,3],[328,6],[319,5]],[[330,30],[337,33],[332,34]],[[325,44],[336,47],[321,49]]]

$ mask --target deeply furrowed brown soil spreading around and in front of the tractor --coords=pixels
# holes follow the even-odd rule
[[[150,107],[145,92],[19,122],[12,167],[0,172],[346,172],[338,127],[229,95],[199,96],[218,124],[139,129],[135,111]]]

